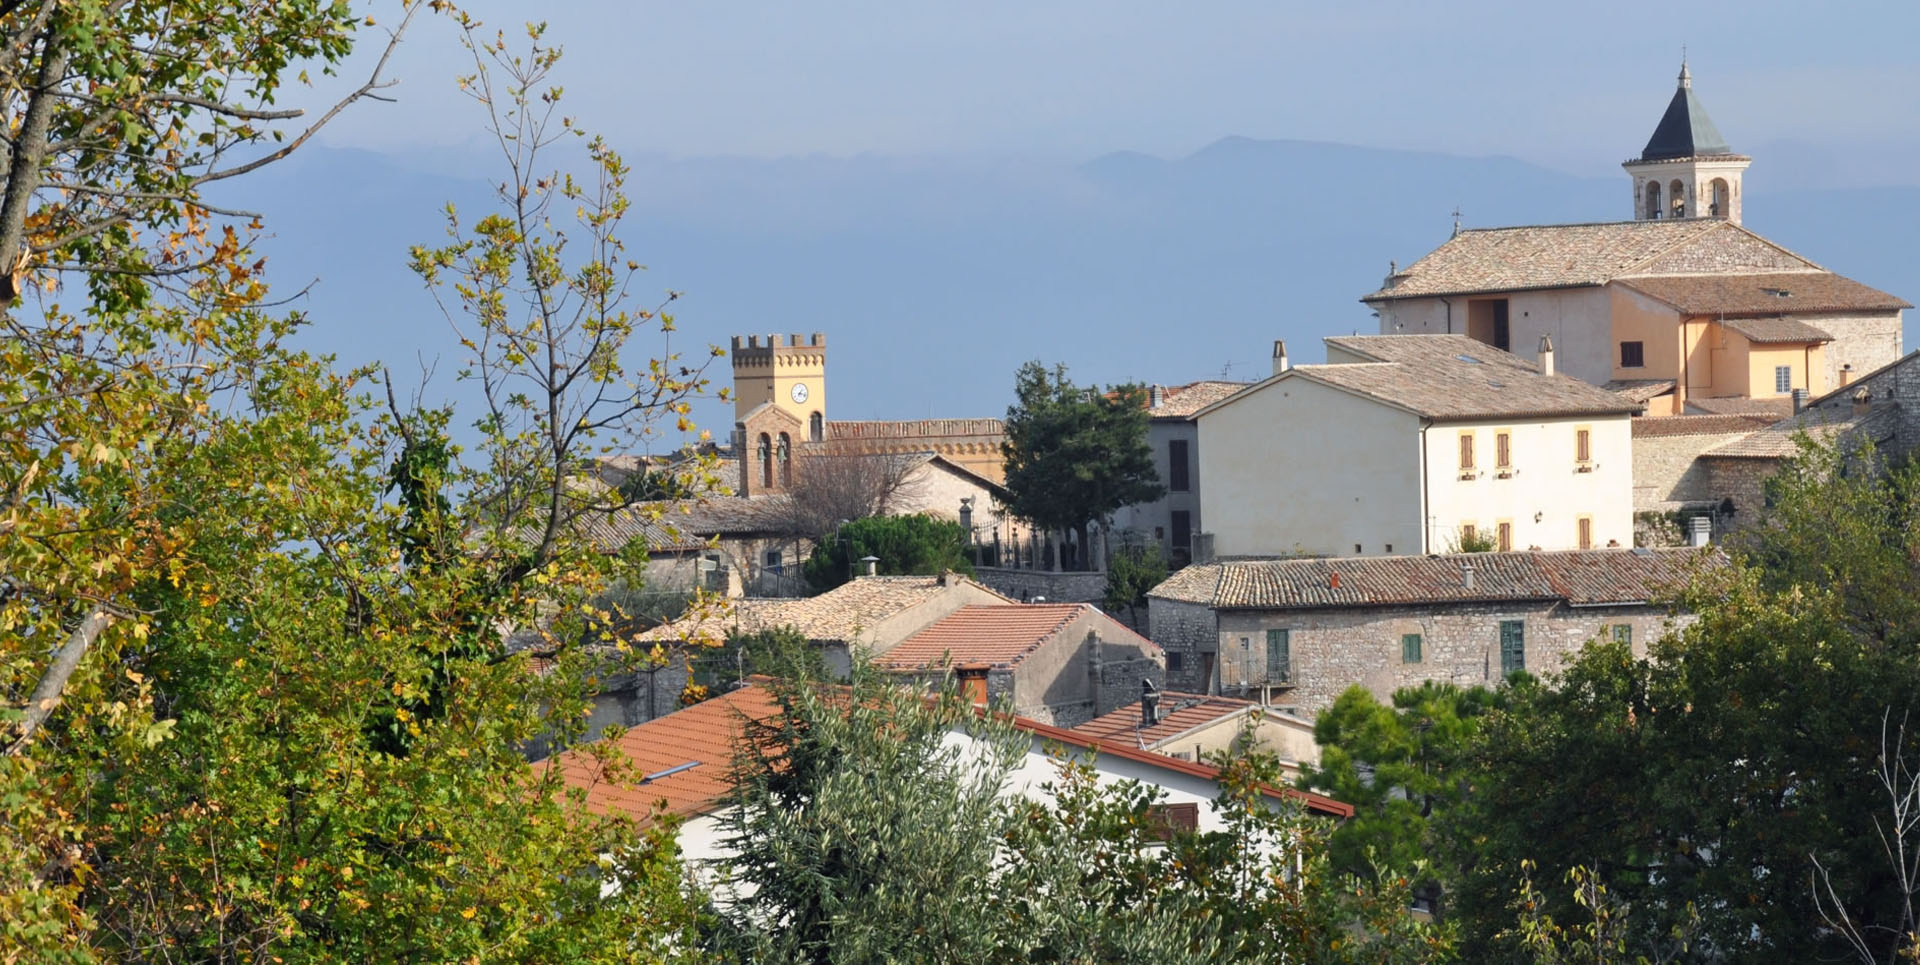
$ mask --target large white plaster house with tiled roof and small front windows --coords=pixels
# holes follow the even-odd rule
[[[1196,416],[1213,556],[1630,547],[1638,403],[1467,336],[1327,340]],[[1546,368],[1546,370],[1542,370]]]

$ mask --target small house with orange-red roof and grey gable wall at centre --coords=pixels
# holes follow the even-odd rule
[[[1085,602],[970,604],[877,650],[874,666],[939,681],[1056,727],[1133,706],[1164,683],[1160,647]]]

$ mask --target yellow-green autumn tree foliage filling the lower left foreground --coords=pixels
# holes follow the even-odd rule
[[[472,553],[551,505],[459,499],[511,482],[288,349],[236,234],[180,244],[177,295],[0,341],[0,955],[682,957],[670,840],[520,752],[578,739],[597,664],[497,629],[580,639],[611,564]]]

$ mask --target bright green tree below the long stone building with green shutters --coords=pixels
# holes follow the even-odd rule
[[[1500,706],[1500,693],[1427,681],[1394,693],[1382,706],[1352,687],[1313,721],[1317,765],[1300,781],[1354,806],[1354,819],[1332,835],[1332,865],[1371,875],[1375,863],[1413,875],[1413,894],[1442,917],[1442,892],[1453,875],[1434,861],[1440,825],[1473,787],[1471,754],[1480,719]]]

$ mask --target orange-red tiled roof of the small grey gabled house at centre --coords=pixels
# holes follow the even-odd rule
[[[962,606],[900,641],[877,664],[887,670],[964,664],[1018,666],[1027,654],[1056,639],[1068,624],[1089,614],[1106,616],[1087,602]],[[1110,620],[1110,624],[1102,627],[1102,637],[1125,637],[1131,643],[1139,643],[1142,650],[1158,650],[1146,637],[1133,633],[1117,622]]]

